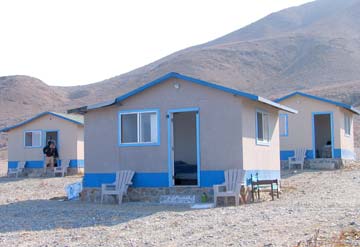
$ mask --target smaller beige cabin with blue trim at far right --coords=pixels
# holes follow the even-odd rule
[[[360,112],[351,105],[294,92],[276,102],[296,108],[298,114],[280,114],[281,160],[297,148],[306,148],[308,160],[354,160],[353,120]]]

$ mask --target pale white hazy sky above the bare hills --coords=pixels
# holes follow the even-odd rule
[[[101,81],[310,0],[0,0],[0,76]]]

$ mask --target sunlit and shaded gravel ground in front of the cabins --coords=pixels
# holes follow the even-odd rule
[[[0,246],[296,246],[360,230],[360,168],[288,174],[278,200],[205,210],[54,200],[80,180],[0,178]]]

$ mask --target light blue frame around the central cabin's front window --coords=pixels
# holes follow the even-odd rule
[[[157,117],[157,141],[156,142],[149,142],[149,143],[121,143],[121,115],[125,114],[138,114],[138,126],[139,126],[139,114],[140,113],[147,113],[147,112],[156,112]],[[139,130],[138,130],[139,131]],[[118,112],[118,146],[119,147],[143,147],[143,146],[159,146],[160,145],[160,109],[141,109],[141,110],[122,110]],[[140,136],[138,136],[140,138]]]

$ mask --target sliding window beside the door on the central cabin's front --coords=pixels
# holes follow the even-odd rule
[[[120,112],[120,145],[157,144],[158,112]]]

